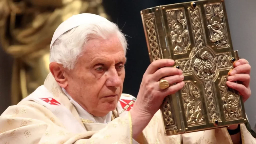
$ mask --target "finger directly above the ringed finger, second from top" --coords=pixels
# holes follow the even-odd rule
[[[182,70],[177,69],[175,67],[163,67],[158,69],[152,76],[154,80],[158,81],[163,77],[181,75],[181,74],[182,74]]]

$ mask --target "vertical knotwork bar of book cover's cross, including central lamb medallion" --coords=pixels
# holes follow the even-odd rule
[[[200,7],[188,7],[188,11],[191,18],[190,22],[192,23],[193,37],[196,46],[192,51],[193,55],[190,56],[190,65],[193,65],[195,68],[194,73],[204,83],[205,100],[208,108],[207,114],[209,116],[208,119],[213,123],[215,120],[220,120],[212,85],[212,79],[215,77],[217,70],[216,62],[214,61],[212,54],[208,52],[208,47],[206,47]]]

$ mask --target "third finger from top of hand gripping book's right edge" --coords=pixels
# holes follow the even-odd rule
[[[249,87],[250,84],[250,75],[248,74],[236,74],[228,77],[228,81],[241,81],[245,87]]]

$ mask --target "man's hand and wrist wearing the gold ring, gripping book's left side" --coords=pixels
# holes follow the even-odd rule
[[[135,139],[159,110],[164,98],[174,94],[184,86],[182,70],[175,67],[174,60],[160,59],[153,61],[145,71],[137,100],[130,110],[132,117],[133,138]],[[162,90],[159,80],[164,78],[171,85]],[[173,85],[176,83],[175,85]]]

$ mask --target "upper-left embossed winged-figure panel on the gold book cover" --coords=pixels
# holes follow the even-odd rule
[[[174,54],[187,52],[190,45],[184,9],[166,10]]]

